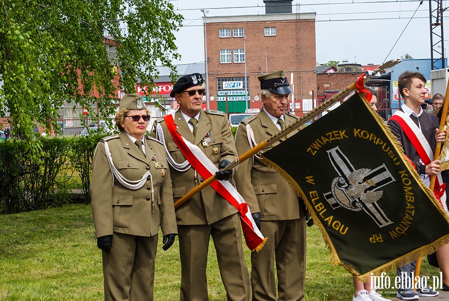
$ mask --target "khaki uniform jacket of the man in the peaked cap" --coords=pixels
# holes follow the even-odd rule
[[[286,112],[284,114],[285,126],[290,125],[297,118],[295,115]],[[279,131],[264,110],[261,110],[257,115],[245,118],[238,125],[235,135],[235,147],[239,156],[251,148],[247,138],[246,124],[251,126],[256,144]],[[272,146],[278,143],[276,142]],[[292,150],[291,155],[297,155],[295,150]],[[251,213],[260,212],[260,220],[278,221],[299,218],[298,197],[287,181],[255,156],[243,161],[238,166],[235,172],[235,182],[237,191],[248,203]]]

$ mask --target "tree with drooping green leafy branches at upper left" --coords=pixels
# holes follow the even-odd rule
[[[64,103],[95,104],[90,117],[106,118],[118,90],[134,93],[137,79],[154,85],[157,62],[176,76],[174,32],[183,17],[167,0],[0,3],[0,116],[9,116],[12,134],[36,157],[34,127],[57,129]]]

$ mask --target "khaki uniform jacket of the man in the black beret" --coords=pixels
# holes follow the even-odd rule
[[[193,135],[180,110],[176,111],[174,122],[178,126],[177,132],[186,140],[197,145],[217,167],[220,161],[224,159],[229,162],[236,159],[237,152],[225,113],[201,110],[196,136]],[[186,161],[186,157],[181,153],[168,131],[164,119],[156,121],[152,136],[156,137],[157,123],[162,126],[165,145],[175,162],[183,163]],[[203,147],[202,140],[207,135],[211,142]],[[170,174],[175,202],[204,181],[193,167],[185,172],[180,172],[170,166]],[[236,212],[237,210],[232,205],[211,186],[208,186],[176,210],[176,219],[178,225],[211,225]]]

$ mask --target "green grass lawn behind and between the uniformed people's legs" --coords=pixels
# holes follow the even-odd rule
[[[161,241],[155,300],[179,300],[178,240],[167,252],[162,251]],[[244,249],[249,267],[250,252],[246,246]],[[210,300],[226,300],[212,242],[207,273]],[[439,275],[439,270],[423,259],[421,275]],[[389,276],[393,280],[396,273],[390,272]],[[305,300],[347,301],[352,294],[350,274],[341,267],[332,267],[318,228],[307,228]],[[103,300],[101,252],[94,240],[90,206],[67,205],[0,216],[0,300]]]

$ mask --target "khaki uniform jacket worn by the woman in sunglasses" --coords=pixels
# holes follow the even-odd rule
[[[153,178],[154,206],[150,177],[138,190],[128,189],[113,179],[104,141],[108,142],[115,168],[126,179],[140,180],[149,169]],[[96,238],[113,232],[149,237],[158,234],[159,226],[163,235],[178,233],[164,147],[159,141],[145,137],[145,148],[146,158],[125,132],[106,137],[98,143],[90,186]],[[155,167],[154,161],[159,166]]]

